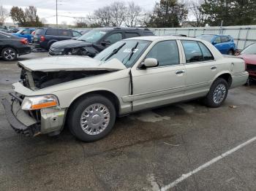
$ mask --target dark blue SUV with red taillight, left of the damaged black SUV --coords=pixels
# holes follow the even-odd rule
[[[48,50],[54,42],[72,39],[81,35],[80,32],[71,29],[37,28],[32,37],[32,43]]]

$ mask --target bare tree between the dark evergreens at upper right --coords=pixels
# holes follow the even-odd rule
[[[194,0],[189,2],[189,12],[194,17],[195,22],[190,22],[192,26],[203,26],[203,21],[206,19],[206,15],[201,10],[201,4],[203,0]]]

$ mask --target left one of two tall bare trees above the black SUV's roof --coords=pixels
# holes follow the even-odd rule
[[[110,4],[110,16],[113,26],[121,26],[127,16],[127,7],[123,1],[115,1]]]

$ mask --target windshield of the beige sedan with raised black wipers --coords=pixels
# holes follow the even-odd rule
[[[110,61],[116,58],[129,68],[133,66],[150,43],[146,40],[122,40],[103,50],[94,58],[99,61]]]

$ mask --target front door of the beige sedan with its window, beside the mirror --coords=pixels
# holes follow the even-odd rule
[[[176,40],[157,42],[146,58],[156,58],[159,66],[132,67],[133,111],[181,101],[184,95],[184,64]]]

